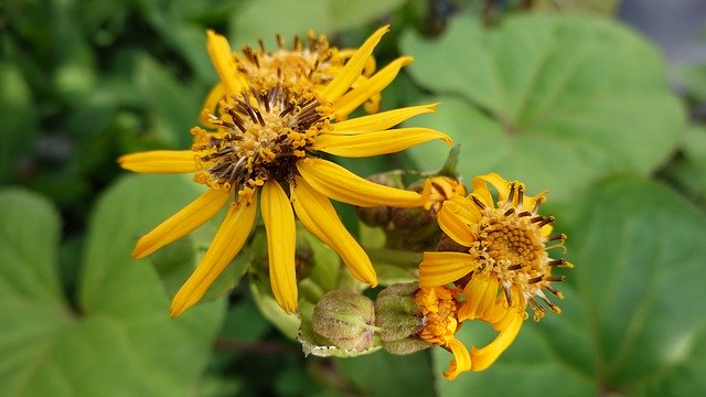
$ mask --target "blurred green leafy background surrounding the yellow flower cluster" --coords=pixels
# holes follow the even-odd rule
[[[650,4],[2,0],[0,395],[705,394],[706,61],[680,51],[698,47],[706,10]],[[660,35],[665,20],[699,14],[693,35]],[[355,46],[383,23],[378,65],[415,57],[383,109],[440,101],[410,125],[461,144],[466,181],[495,171],[531,194],[548,189],[544,212],[577,266],[559,286],[563,314],[526,322],[495,365],[454,382],[440,376],[441,348],[304,358],[237,282],[237,260],[214,293],[234,288],[227,297],[171,320],[172,269],[129,257],[199,192],[188,178],[128,175],[115,159],[190,144],[216,81],[206,28],[237,50],[309,29]],[[345,165],[436,171],[447,151],[431,142]],[[208,227],[171,255],[207,244]],[[469,344],[489,334],[462,330]]]

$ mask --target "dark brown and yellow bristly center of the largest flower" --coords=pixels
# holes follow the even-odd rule
[[[193,128],[199,183],[212,189],[237,189],[252,196],[266,181],[289,182],[297,160],[311,154],[320,131],[330,128],[314,97],[292,98],[276,85],[220,104],[220,116],[208,115],[216,131]]]

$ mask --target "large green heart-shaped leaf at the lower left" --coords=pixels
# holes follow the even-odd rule
[[[75,303],[57,275],[60,221],[24,191],[0,193],[0,395],[186,396],[200,383],[223,302],[169,318],[135,238],[186,203],[193,183],[131,176],[92,217]]]

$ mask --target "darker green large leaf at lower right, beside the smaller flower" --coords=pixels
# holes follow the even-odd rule
[[[563,313],[526,322],[488,371],[439,380],[442,395],[702,395],[706,216],[634,176],[602,181],[558,210],[576,264],[559,286]],[[469,344],[486,336],[463,331]],[[450,355],[435,357],[441,371]]]

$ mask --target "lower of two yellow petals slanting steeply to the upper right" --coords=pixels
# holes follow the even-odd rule
[[[367,82],[361,84],[359,87],[351,89],[349,93],[333,101],[332,111],[335,114],[347,115],[351,111],[355,110],[368,98],[385,89],[385,87],[387,87],[389,83],[392,83],[395,77],[397,77],[399,69],[410,64],[411,61],[411,56],[400,56],[397,60],[391,62]]]

